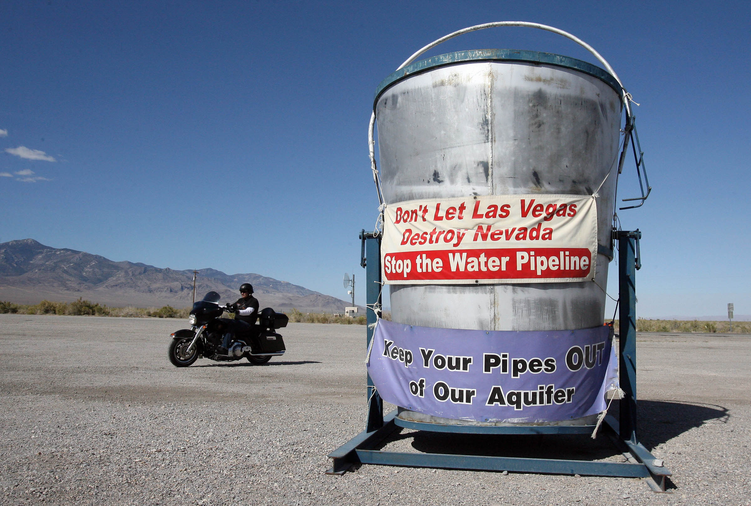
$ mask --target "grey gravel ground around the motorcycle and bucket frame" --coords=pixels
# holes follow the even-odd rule
[[[751,504],[751,336],[638,339],[642,480],[363,465],[324,474],[363,428],[364,327],[290,324],[265,366],[176,369],[184,321],[0,315],[2,504]],[[430,435],[394,450],[623,461],[604,437]]]

